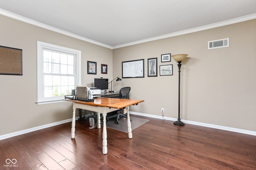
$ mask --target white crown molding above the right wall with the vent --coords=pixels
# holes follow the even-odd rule
[[[239,18],[234,18],[234,19],[231,19],[231,20],[226,20],[226,21],[221,21],[221,22],[217,22],[217,23],[212,23],[212,24],[209,24],[209,25],[204,25],[204,26],[201,26],[201,27],[195,27],[195,28],[192,28],[192,29],[186,29],[186,30],[183,30],[183,31],[177,31],[177,32],[174,32],[174,33],[168,33],[168,34],[165,34],[165,35],[160,35],[160,36],[156,36],[156,37],[142,39],[142,40],[139,40],[139,41],[134,41],[134,42],[130,42],[130,43],[116,45],[116,46],[113,46],[113,49],[127,47],[127,46],[130,46],[130,45],[136,45],[136,44],[140,44],[140,43],[146,43],[146,42],[155,41],[155,40],[158,40],[158,39],[175,37],[175,36],[178,36],[178,35],[184,35],[184,34],[188,34],[188,33],[194,33],[194,32],[197,32],[197,31],[203,31],[203,30],[206,30],[206,29],[221,27],[221,26],[230,25],[230,24],[238,23],[238,22],[242,22],[242,21],[253,20],[255,18],[256,18],[256,13],[255,14],[250,14],[250,15],[247,15],[247,16],[242,16],[242,17],[239,17]]]

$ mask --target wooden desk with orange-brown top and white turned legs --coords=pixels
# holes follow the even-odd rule
[[[95,98],[94,102],[84,102],[80,100],[67,100],[73,102],[73,117],[71,125],[71,138],[75,138],[75,125],[76,125],[76,108],[85,109],[90,111],[95,111],[102,113],[103,115],[103,133],[102,133],[102,153],[106,154],[107,149],[107,127],[106,127],[106,115],[111,111],[124,108],[124,113],[127,113],[127,125],[128,125],[128,137],[132,138],[132,128],[129,115],[129,106],[137,105],[144,100],[130,100],[130,99],[119,99],[119,98]],[[100,125],[100,114],[98,114],[97,120],[98,129],[101,128]]]

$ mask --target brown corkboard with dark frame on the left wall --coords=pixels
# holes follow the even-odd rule
[[[22,75],[22,49],[0,46],[0,74]]]

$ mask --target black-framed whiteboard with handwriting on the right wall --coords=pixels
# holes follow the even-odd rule
[[[122,78],[142,77],[144,77],[144,59],[122,62]]]

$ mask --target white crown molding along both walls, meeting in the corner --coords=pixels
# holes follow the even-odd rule
[[[178,35],[193,33],[193,32],[197,32],[197,31],[203,31],[203,30],[206,30],[206,29],[211,29],[211,28],[221,27],[221,26],[225,26],[225,25],[230,25],[230,24],[238,23],[238,22],[242,22],[242,21],[253,20],[253,19],[256,18],[256,13],[255,13],[255,14],[250,14],[250,15],[247,15],[247,16],[234,18],[234,19],[231,19],[231,20],[226,20],[226,21],[221,21],[221,22],[217,22],[217,23],[212,23],[212,24],[209,24],[209,25],[204,25],[204,26],[201,26],[201,27],[186,29],[186,30],[183,30],[183,31],[177,31],[177,32],[174,32],[174,33],[168,33],[168,34],[164,34],[164,35],[160,35],[160,36],[156,36],[156,37],[151,37],[151,38],[147,38],[147,39],[142,39],[142,40],[139,40],[139,41],[133,41],[133,42],[125,43],[125,44],[121,44],[121,45],[110,46],[110,45],[106,45],[104,43],[100,43],[98,41],[94,41],[92,39],[88,39],[86,37],[82,37],[80,35],[76,35],[74,33],[70,33],[68,31],[64,31],[62,29],[58,29],[56,27],[52,27],[50,25],[46,25],[44,23],[40,23],[40,22],[35,21],[35,20],[31,20],[29,18],[20,16],[18,14],[14,14],[12,12],[3,10],[1,8],[0,8],[0,14],[2,14],[4,16],[7,16],[7,17],[10,17],[10,18],[14,18],[16,20],[20,20],[20,21],[23,21],[23,22],[26,22],[26,23],[30,23],[32,25],[36,25],[38,27],[42,27],[42,28],[54,31],[54,32],[57,32],[57,33],[68,35],[70,37],[80,39],[82,41],[86,41],[88,43],[92,43],[92,44],[96,44],[96,45],[99,45],[99,46],[102,46],[102,47],[106,47],[108,49],[118,49],[118,48],[130,46],[130,45],[146,43],[146,42],[155,41],[155,40],[158,40],[158,39],[164,39],[164,38],[174,37],[174,36],[178,36]]]

